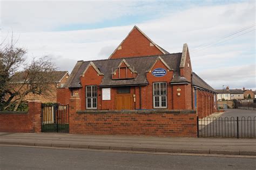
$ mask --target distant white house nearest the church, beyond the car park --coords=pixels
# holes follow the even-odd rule
[[[241,89],[230,89],[228,86],[224,90],[216,90],[218,92],[217,100],[233,100],[233,99],[244,99],[244,91]]]

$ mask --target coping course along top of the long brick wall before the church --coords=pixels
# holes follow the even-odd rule
[[[196,114],[196,110],[84,110],[77,111],[78,114]]]

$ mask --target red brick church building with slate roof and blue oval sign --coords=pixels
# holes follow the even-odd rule
[[[134,26],[108,59],[77,62],[57,101],[82,110],[217,110],[214,89],[192,72],[187,44],[169,53]]]

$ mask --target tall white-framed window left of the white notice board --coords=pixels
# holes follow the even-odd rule
[[[97,108],[97,86],[86,86],[86,108]]]

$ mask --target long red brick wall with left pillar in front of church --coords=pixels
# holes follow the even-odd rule
[[[80,98],[71,98],[70,133],[197,137],[194,110],[79,110]]]

